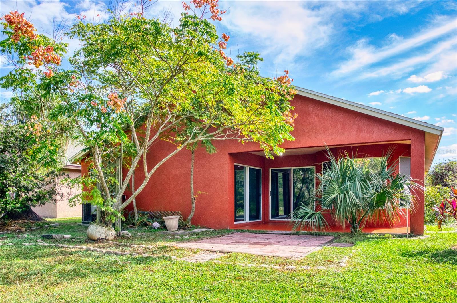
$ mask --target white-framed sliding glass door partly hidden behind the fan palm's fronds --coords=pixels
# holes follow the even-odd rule
[[[315,168],[271,168],[270,218],[290,220],[302,204],[314,203]]]

